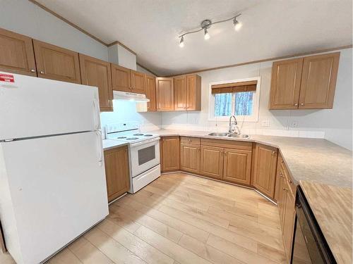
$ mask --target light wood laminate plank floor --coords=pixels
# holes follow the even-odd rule
[[[251,189],[173,173],[109,211],[49,263],[286,262],[278,208]]]

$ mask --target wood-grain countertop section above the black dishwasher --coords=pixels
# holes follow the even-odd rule
[[[352,263],[352,189],[300,182],[337,263]]]

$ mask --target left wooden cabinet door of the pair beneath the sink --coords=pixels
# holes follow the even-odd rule
[[[222,179],[223,151],[216,146],[201,146],[201,175]]]

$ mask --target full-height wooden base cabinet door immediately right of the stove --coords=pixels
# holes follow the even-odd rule
[[[180,141],[179,137],[162,138],[162,171],[179,170]]]

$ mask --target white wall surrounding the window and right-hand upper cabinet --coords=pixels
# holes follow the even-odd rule
[[[352,49],[343,49],[340,52],[333,109],[268,110],[272,68],[272,61],[268,61],[198,73],[202,78],[201,111],[164,112],[162,113],[162,127],[208,131],[227,130],[227,122],[208,120],[209,83],[261,76],[258,122],[244,122],[242,132],[290,137],[325,137],[347,149],[352,149]],[[268,120],[270,126],[262,127],[263,120]],[[294,121],[297,122],[297,127],[292,127]]]

